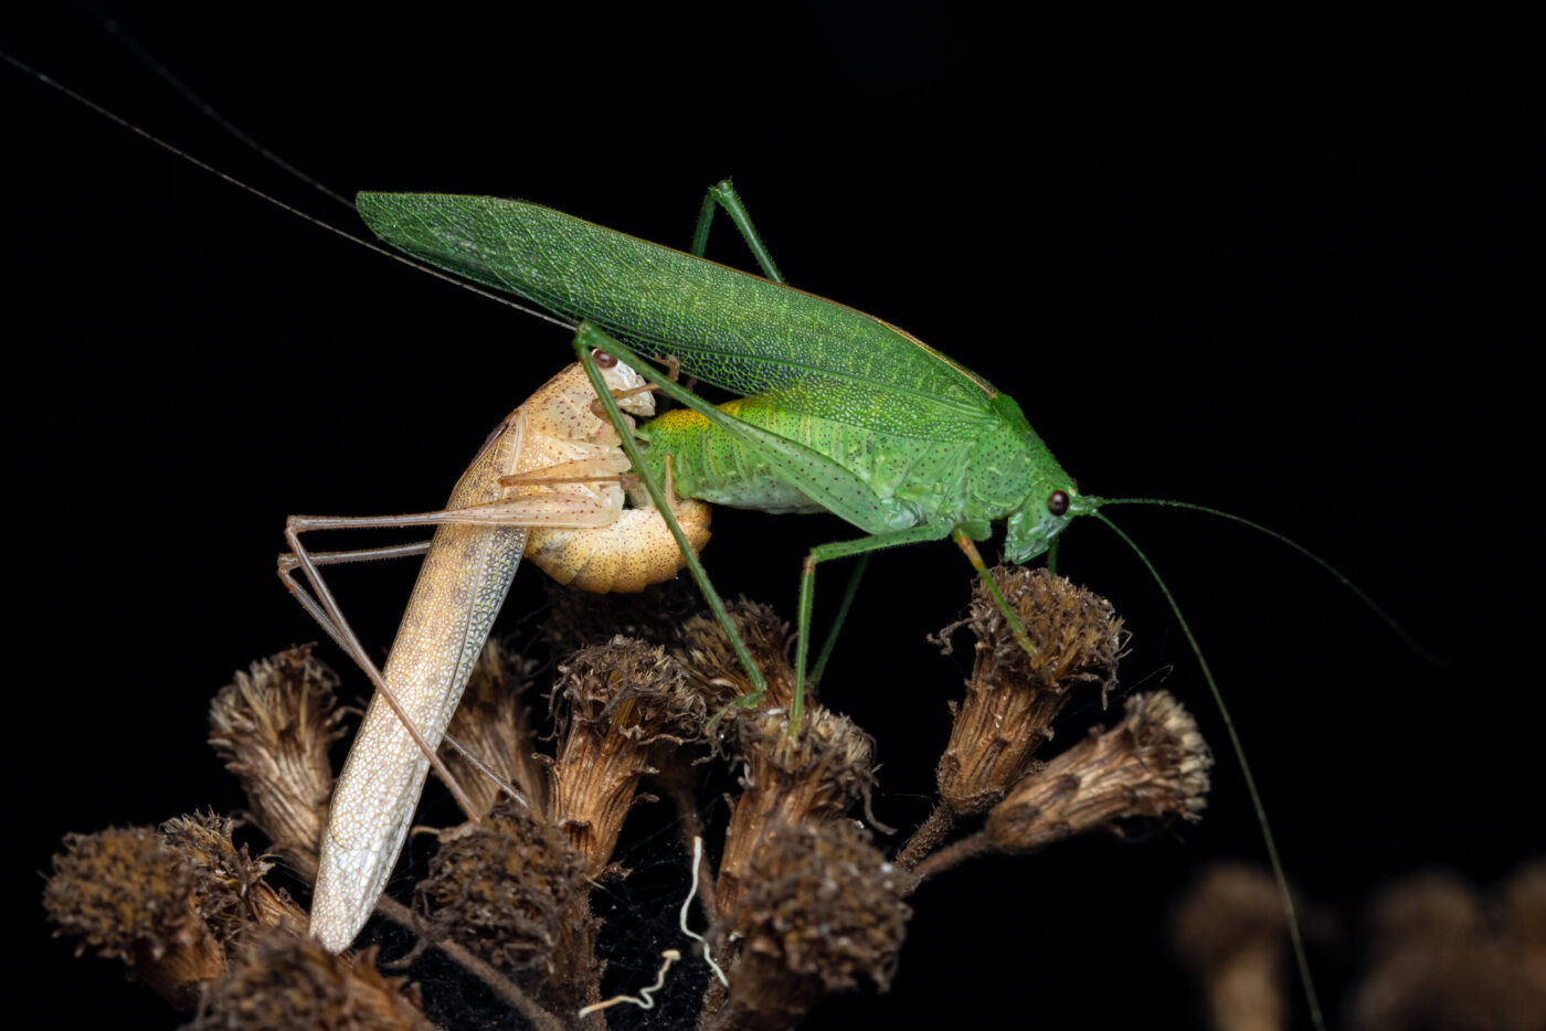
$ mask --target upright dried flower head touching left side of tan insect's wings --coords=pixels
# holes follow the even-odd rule
[[[337,685],[311,645],[301,645],[252,663],[209,706],[209,742],[241,779],[252,807],[246,816],[308,881],[332,795],[328,745],[343,734]]]

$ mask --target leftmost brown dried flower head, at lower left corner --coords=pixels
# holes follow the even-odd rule
[[[226,966],[224,951],[199,918],[199,872],[148,827],[66,835],[43,889],[57,935],[121,958],[176,1006],[198,1002],[199,985]]]

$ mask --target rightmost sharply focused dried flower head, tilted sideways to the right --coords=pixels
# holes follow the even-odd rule
[[[1133,816],[1200,819],[1212,765],[1197,720],[1175,697],[1135,694],[1121,723],[1091,731],[1010,788],[988,813],[988,842],[1025,852]]]

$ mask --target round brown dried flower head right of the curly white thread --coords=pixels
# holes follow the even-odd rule
[[[725,921],[741,941],[727,1026],[790,1028],[822,995],[890,985],[912,910],[912,878],[850,821],[778,827],[747,867]]]

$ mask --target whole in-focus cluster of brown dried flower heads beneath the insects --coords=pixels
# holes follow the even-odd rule
[[[747,708],[750,685],[728,637],[690,614],[680,589],[643,601],[563,594],[543,631],[563,646],[550,733],[538,734],[526,703],[535,663],[490,645],[450,728],[475,760],[442,753],[472,795],[473,819],[436,832],[414,909],[383,897],[377,914],[543,1031],[604,1026],[606,1008],[629,1000],[601,1000],[608,927],[597,884],[628,876],[614,852],[628,815],[652,801],[645,788],[659,790],[676,805],[679,847],[708,838],[708,853],[719,853],[717,867],[705,858],[694,875],[693,923],[710,923],[705,943],[724,971],[708,978],[699,1026],[771,1031],[799,1023],[829,992],[892,982],[906,898],[923,876],[1127,818],[1195,819],[1211,759],[1164,692],[1129,699],[1118,726],[1045,765],[1031,759],[1074,686],[1112,686],[1125,632],[1110,604],[1064,580],[994,575],[1036,654],[979,589],[963,621],[979,637],[977,658],[938,760],[935,816],[895,858],[853,819],[877,787],[875,742],[819,705],[790,725],[790,632],[771,609],[730,606],[770,685]],[[238,674],[210,708],[210,740],[241,778],[247,821],[303,880],[315,870],[332,785],[335,685],[308,648],[292,649]],[[504,798],[484,770],[523,799]],[[728,819],[705,832],[702,813],[714,810],[702,788],[731,778]],[[982,815],[974,833],[940,849],[959,819]],[[167,999],[198,1005],[198,1028],[428,1026],[414,991],[382,977],[373,951],[351,960],[308,943],[306,915],[264,880],[271,861],[250,858],[230,832],[230,819],[210,815],[159,833],[71,836],[45,904],[82,949],[119,957]],[[662,978],[669,969],[673,982],[691,983],[691,957],[677,958],[690,948],[668,949]],[[621,974],[625,992],[645,988]]]

